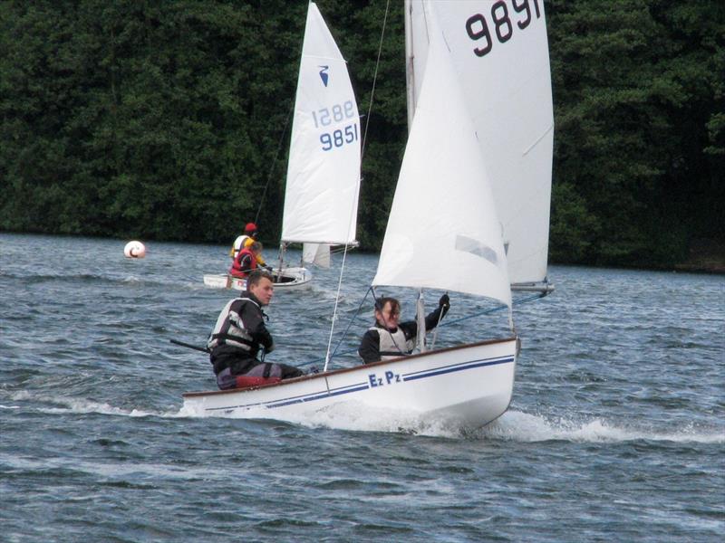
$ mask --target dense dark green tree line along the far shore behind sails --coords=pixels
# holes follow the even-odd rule
[[[407,136],[403,5],[317,5],[363,115],[358,239],[376,250]],[[552,262],[669,267],[722,242],[725,4],[544,5]],[[276,243],[306,9],[0,4],[0,229],[228,243],[256,220]]]

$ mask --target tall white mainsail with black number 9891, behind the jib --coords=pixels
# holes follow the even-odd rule
[[[543,281],[554,132],[544,2],[407,0],[411,111],[420,100],[433,14],[478,134],[503,225],[510,281]]]

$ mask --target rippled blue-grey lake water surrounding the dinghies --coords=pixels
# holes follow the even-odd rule
[[[231,292],[202,275],[227,268],[227,247],[147,243],[130,260],[124,245],[0,234],[2,541],[725,533],[723,276],[551,266],[556,291],[515,308],[513,403],[483,429],[350,411],[196,418],[181,394],[214,388],[208,357],[169,339],[203,345]],[[324,357],[340,262],[275,293],[270,358]],[[347,257],[335,364],[357,363],[376,263]],[[498,333],[506,315],[482,308],[451,295],[438,344]]]

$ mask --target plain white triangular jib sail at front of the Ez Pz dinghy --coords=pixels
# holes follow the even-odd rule
[[[449,52],[434,30],[372,284],[467,292],[511,304],[486,167]]]

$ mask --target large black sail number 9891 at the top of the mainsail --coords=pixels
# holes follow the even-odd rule
[[[509,0],[511,7],[517,13],[516,25],[520,30],[524,30],[533,19],[534,14],[531,12],[531,5],[534,5],[536,19],[541,18],[541,9],[538,6],[538,0]],[[490,20],[493,24],[493,30],[498,38],[498,43],[506,43],[514,34],[514,22],[511,20],[511,14],[508,11],[508,5],[504,0],[498,0],[491,5]],[[478,42],[482,40],[481,47],[474,47],[473,52],[477,56],[485,56],[493,49],[493,37],[488,26],[488,21],[483,14],[474,14],[466,21],[466,32],[469,38]]]

